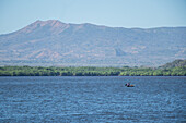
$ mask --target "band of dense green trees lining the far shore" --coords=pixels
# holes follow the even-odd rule
[[[151,67],[43,67],[0,66],[0,76],[186,76],[186,66]]]

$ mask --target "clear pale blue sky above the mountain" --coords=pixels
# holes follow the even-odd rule
[[[186,26],[186,0],[0,0],[0,34],[37,20],[127,28]]]

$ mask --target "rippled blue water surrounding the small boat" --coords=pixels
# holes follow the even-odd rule
[[[0,77],[0,122],[186,122],[185,101],[186,77]]]

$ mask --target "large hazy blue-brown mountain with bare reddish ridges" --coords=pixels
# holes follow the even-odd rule
[[[158,66],[186,58],[186,27],[124,28],[36,21],[0,35],[0,65]]]

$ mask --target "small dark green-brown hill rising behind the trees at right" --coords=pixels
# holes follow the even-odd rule
[[[186,60],[175,60],[171,63],[166,63],[161,67],[177,67],[177,66],[186,66]]]

